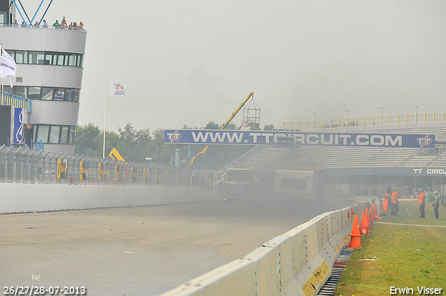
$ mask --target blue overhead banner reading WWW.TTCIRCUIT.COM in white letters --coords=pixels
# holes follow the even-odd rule
[[[357,146],[433,148],[429,134],[356,134],[323,132],[164,130],[164,143],[277,145],[277,138],[290,139],[295,146]],[[281,141],[282,139],[279,139]]]

